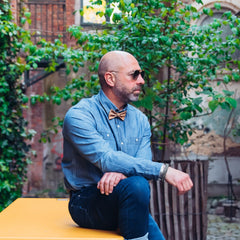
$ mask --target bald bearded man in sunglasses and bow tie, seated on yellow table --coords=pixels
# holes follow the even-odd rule
[[[164,239],[149,214],[150,179],[166,180],[183,194],[189,175],[153,162],[147,117],[137,101],[144,72],[129,53],[112,51],[99,64],[99,94],[82,99],[63,127],[69,211],[81,227],[116,230],[125,239]]]

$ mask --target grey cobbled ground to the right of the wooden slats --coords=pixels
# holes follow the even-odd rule
[[[208,209],[207,240],[240,240],[240,202],[235,217],[231,219],[224,215],[221,202],[213,205]]]

